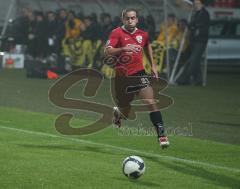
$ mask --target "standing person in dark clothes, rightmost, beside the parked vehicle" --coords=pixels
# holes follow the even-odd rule
[[[194,0],[193,3],[195,12],[189,25],[191,54],[179,84],[199,85],[202,84],[201,60],[207,46],[210,18],[203,0]]]

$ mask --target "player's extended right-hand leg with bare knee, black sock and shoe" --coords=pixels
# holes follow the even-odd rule
[[[148,105],[150,111],[150,120],[154,127],[156,128],[158,140],[162,148],[169,146],[168,138],[164,133],[162,114],[156,106],[154,100],[154,92],[151,86],[143,88],[139,92],[140,98]]]

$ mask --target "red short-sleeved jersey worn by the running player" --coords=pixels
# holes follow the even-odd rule
[[[120,48],[134,45],[137,52],[121,53],[116,57],[115,69],[117,74],[133,75],[144,70],[142,61],[142,49],[149,44],[148,33],[137,29],[130,33],[124,27],[114,29],[107,41],[106,48]]]

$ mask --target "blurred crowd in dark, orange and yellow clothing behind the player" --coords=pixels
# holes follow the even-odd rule
[[[166,48],[169,48],[170,63],[173,65],[187,24],[186,20],[177,20],[174,14],[169,14],[167,23],[162,23],[160,33],[156,34],[158,29],[154,18],[151,15],[139,17],[138,28],[149,33],[160,73],[166,67]],[[120,17],[113,18],[108,13],[83,15],[65,9],[40,12],[24,8],[21,16],[12,23],[8,34],[14,37],[15,44],[25,44],[26,54],[33,59],[55,55],[58,64],[56,70],[59,72],[66,70],[65,65],[68,62],[71,70],[93,67],[109,77],[112,68],[103,64],[102,49],[111,30],[120,25]],[[187,34],[183,54],[187,51],[188,43]],[[146,59],[144,65],[146,71],[150,72]]]

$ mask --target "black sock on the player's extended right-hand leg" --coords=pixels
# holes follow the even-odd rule
[[[154,127],[156,128],[158,137],[165,136],[161,112],[160,111],[151,112],[150,119]]]

